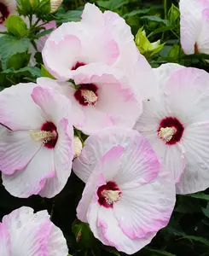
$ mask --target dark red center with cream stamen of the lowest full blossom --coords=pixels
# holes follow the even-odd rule
[[[107,184],[99,187],[97,195],[99,197],[98,202],[102,207],[113,208],[113,204],[119,201],[121,192],[116,183],[109,181]]]

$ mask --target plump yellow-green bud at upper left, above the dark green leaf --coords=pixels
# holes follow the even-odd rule
[[[5,26],[7,26],[8,32],[17,38],[23,38],[26,36],[26,23],[20,18],[20,16],[9,15],[9,18],[5,21]]]

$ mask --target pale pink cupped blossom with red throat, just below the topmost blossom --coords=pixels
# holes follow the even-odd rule
[[[104,127],[121,125],[132,128],[142,113],[142,101],[136,100],[129,80],[119,69],[104,63],[90,63],[79,67],[73,75],[74,83],[52,79],[38,79],[49,84],[72,102],[73,125],[85,134],[93,134]]]

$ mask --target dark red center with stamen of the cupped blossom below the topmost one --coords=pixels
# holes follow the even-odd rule
[[[79,84],[74,97],[82,106],[94,106],[98,101],[98,88],[95,84]]]

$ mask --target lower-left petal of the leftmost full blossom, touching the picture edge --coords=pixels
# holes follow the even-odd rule
[[[13,174],[23,170],[41,148],[35,143],[29,131],[6,131],[0,140],[0,170],[3,174]]]

